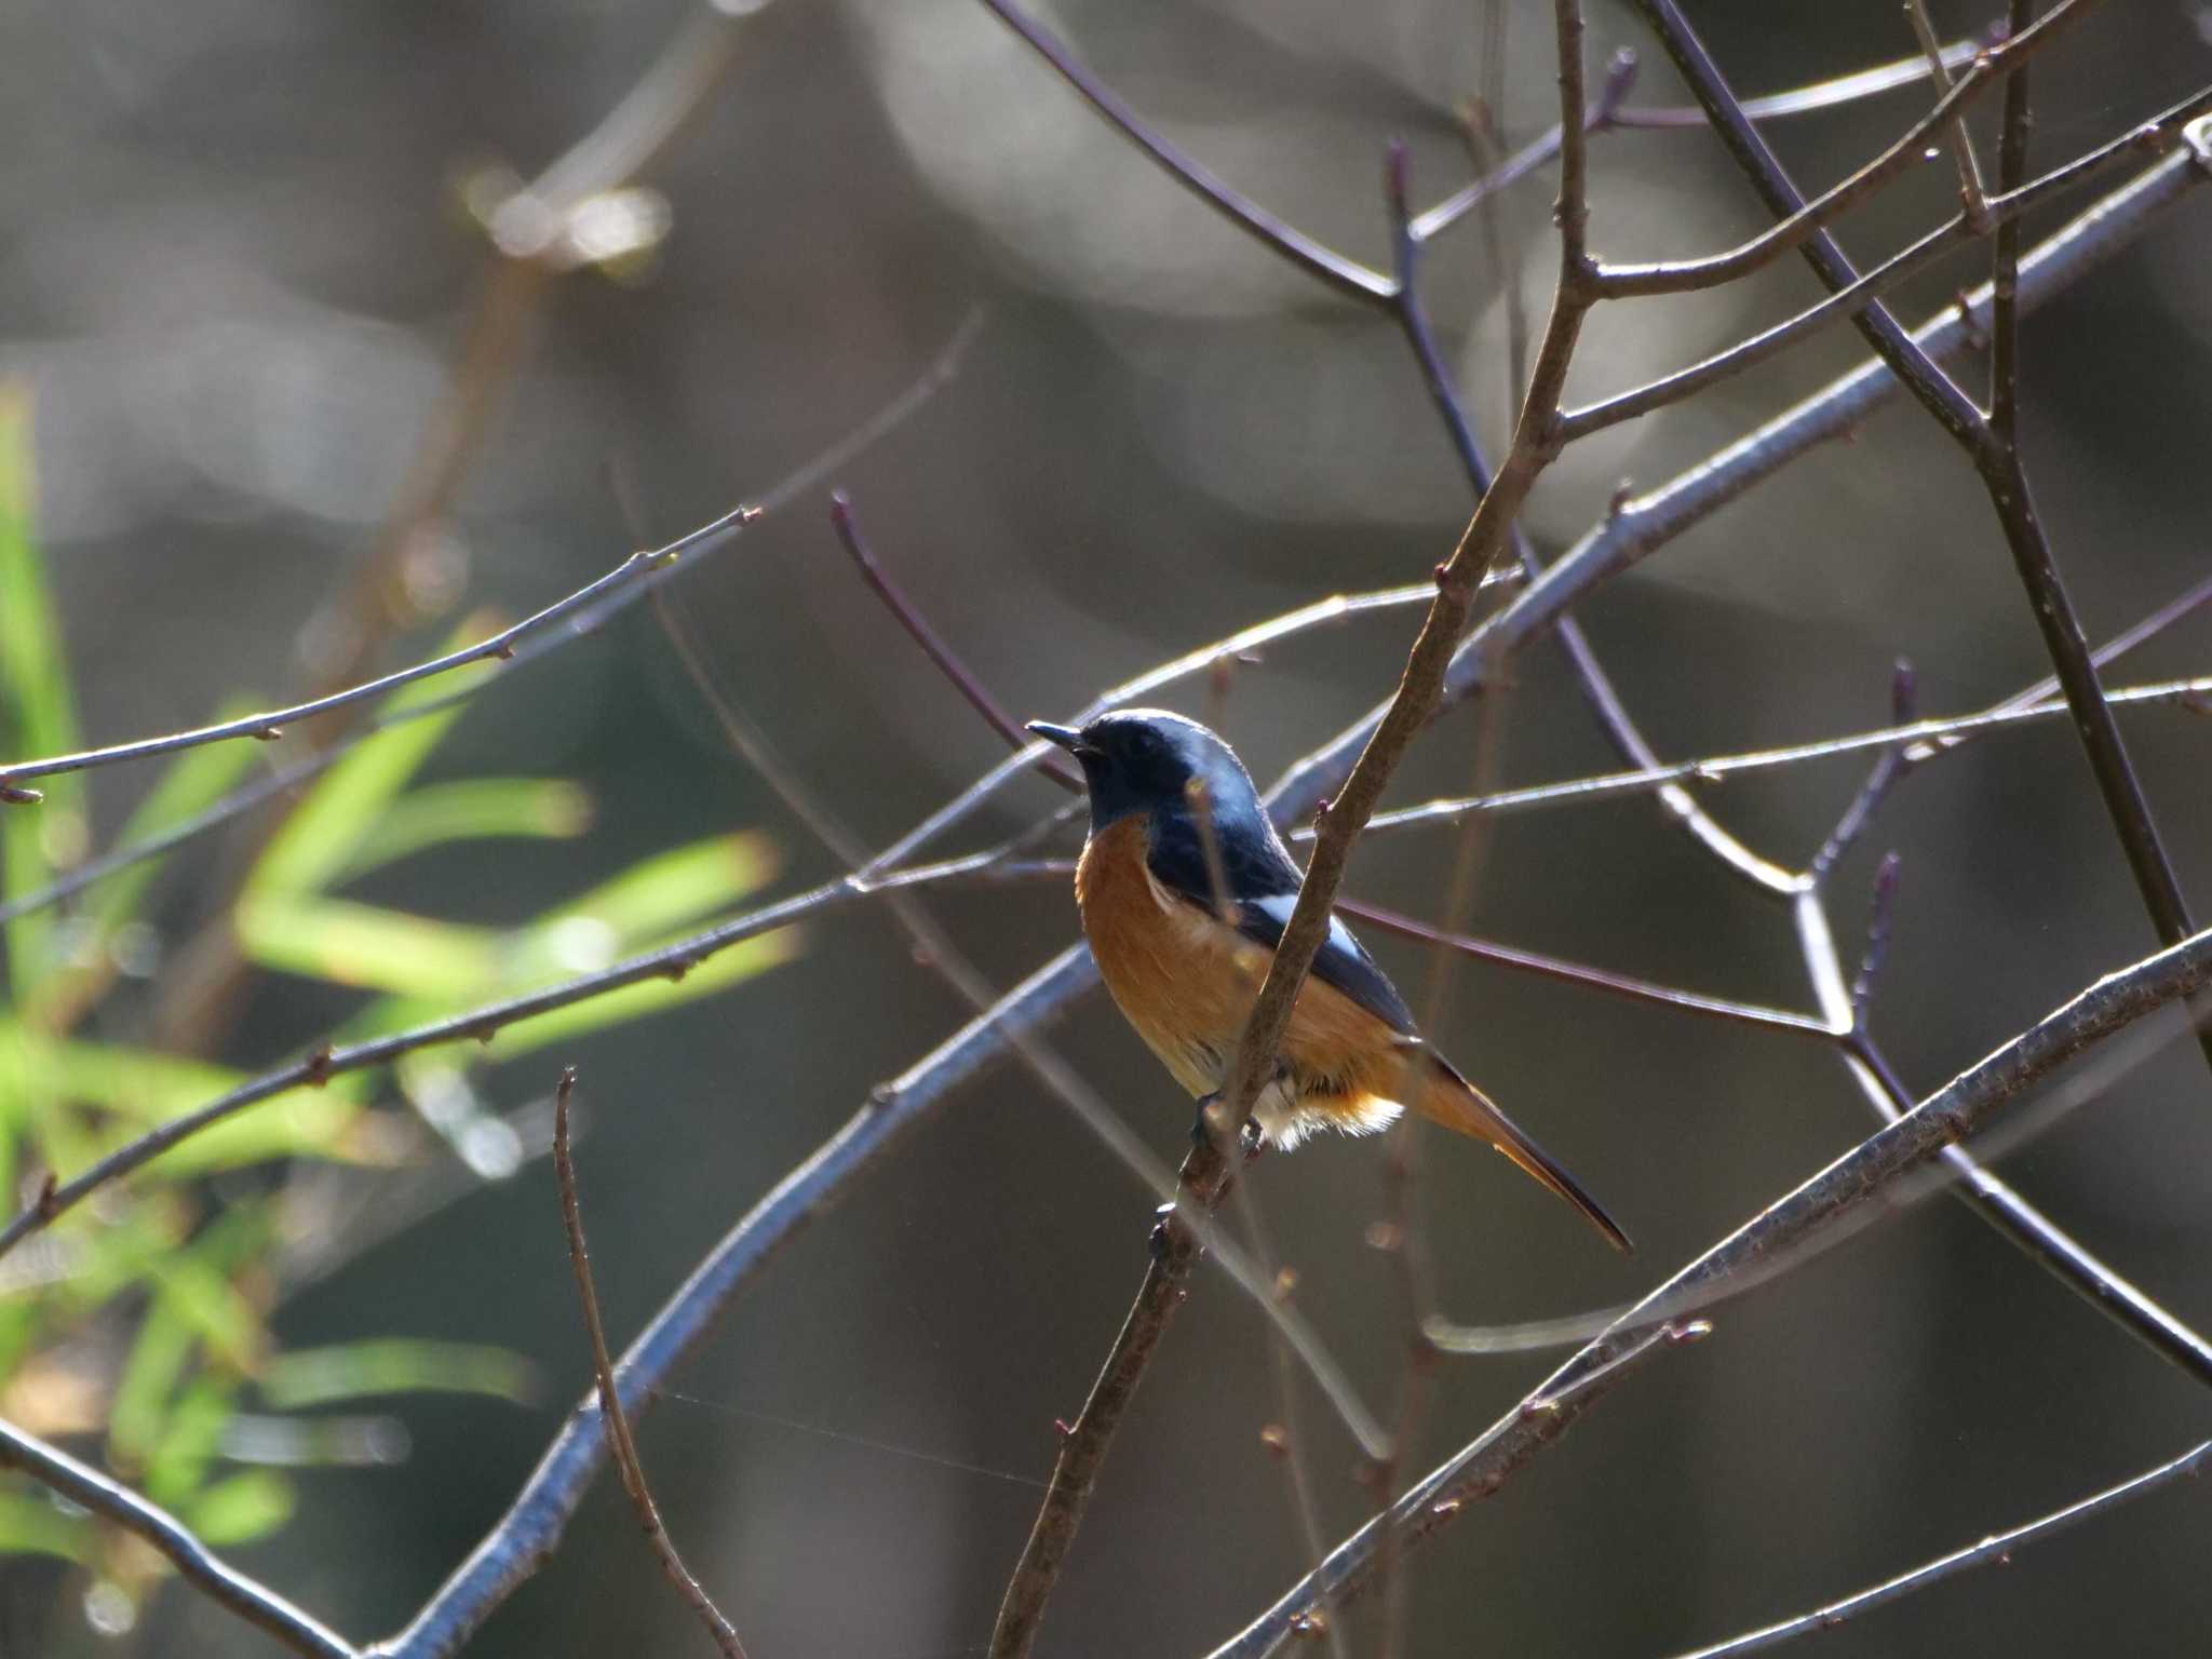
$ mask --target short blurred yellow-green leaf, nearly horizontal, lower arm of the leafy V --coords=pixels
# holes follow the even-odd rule
[[[500,982],[500,936],[487,927],[268,891],[239,898],[232,925],[254,962],[307,980],[436,1002],[476,1002]]]

